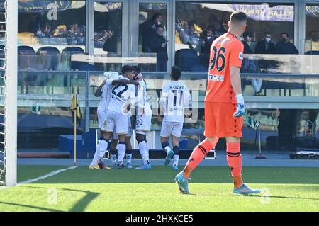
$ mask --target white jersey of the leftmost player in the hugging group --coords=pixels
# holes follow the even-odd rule
[[[118,79],[120,75],[117,72],[104,72],[103,75],[108,78],[108,80],[106,80],[106,84],[102,88],[102,96],[98,106],[98,111],[107,112],[108,105],[111,100],[112,81]]]

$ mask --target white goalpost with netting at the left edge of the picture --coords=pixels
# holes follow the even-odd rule
[[[0,16],[5,40],[0,48],[0,185],[10,187],[17,178],[18,0],[1,0]]]

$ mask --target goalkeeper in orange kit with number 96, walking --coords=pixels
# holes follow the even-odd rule
[[[205,133],[203,140],[192,152],[184,171],[175,177],[181,193],[189,193],[191,171],[206,154],[216,146],[220,137],[226,137],[227,161],[234,181],[233,193],[260,193],[242,181],[242,115],[245,113],[240,83],[243,45],[238,38],[244,33],[247,16],[234,12],[228,22],[228,33],[221,35],[211,45],[208,86],[205,98]]]

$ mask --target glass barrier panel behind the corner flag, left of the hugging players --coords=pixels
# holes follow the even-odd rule
[[[84,72],[18,72],[18,149],[55,149],[63,135],[73,134],[71,106],[77,87],[82,120],[78,135],[84,132]]]

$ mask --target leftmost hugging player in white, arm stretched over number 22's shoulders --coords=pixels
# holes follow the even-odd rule
[[[101,130],[101,137],[99,140],[98,145],[96,145],[96,152],[94,154],[94,158],[89,166],[89,169],[110,169],[108,168],[104,162],[103,162],[103,157],[108,149],[108,140],[109,137],[106,136],[106,129],[107,129],[107,111],[108,111],[108,106],[111,100],[111,91],[113,85],[128,85],[128,84],[133,84],[133,85],[138,85],[137,81],[132,81],[128,79],[123,79],[119,77],[119,74],[117,72],[105,72],[104,76],[106,78],[103,81],[103,83],[99,86],[99,88],[96,90],[94,96],[101,96],[101,101],[99,103],[98,107],[98,118],[99,118],[99,128]],[[112,145],[111,149],[113,146],[116,147],[118,143],[118,140],[112,140]],[[116,148],[114,150],[116,152]],[[115,155],[116,156],[116,153]]]

